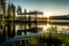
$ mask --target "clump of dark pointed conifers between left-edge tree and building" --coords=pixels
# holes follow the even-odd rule
[[[9,2],[9,5],[8,5],[8,18],[15,18],[15,5],[12,3]]]

